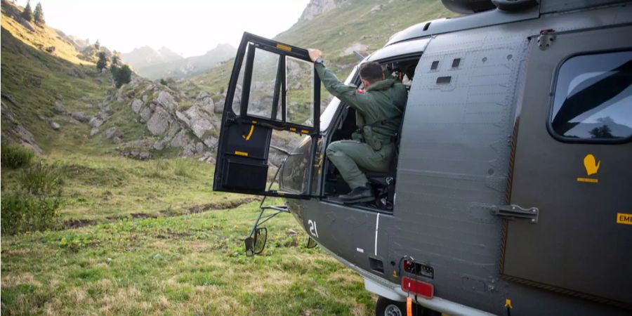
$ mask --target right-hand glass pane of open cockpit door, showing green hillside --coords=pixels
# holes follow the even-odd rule
[[[287,57],[286,120],[288,123],[314,126],[314,65]]]

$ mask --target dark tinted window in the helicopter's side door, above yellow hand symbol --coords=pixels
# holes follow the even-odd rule
[[[577,55],[558,70],[551,131],[565,141],[632,136],[632,51]]]

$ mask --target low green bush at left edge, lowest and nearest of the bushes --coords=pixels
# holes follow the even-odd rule
[[[38,196],[29,192],[3,192],[1,197],[1,234],[15,235],[55,228],[60,196]]]

